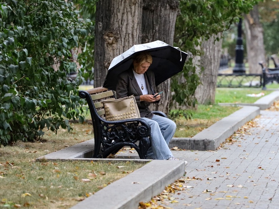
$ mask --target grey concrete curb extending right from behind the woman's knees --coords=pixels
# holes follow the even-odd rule
[[[259,107],[242,107],[192,138],[173,138],[169,143],[169,148],[178,147],[180,149],[199,151],[216,150],[239,127],[259,114]]]

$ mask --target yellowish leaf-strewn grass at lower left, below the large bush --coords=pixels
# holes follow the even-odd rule
[[[74,131],[46,131],[39,142],[0,148],[0,208],[70,208],[144,164],[83,161],[36,162],[35,159],[93,138],[92,125]],[[83,179],[90,179],[86,182]]]

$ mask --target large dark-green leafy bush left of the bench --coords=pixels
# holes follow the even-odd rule
[[[83,120],[81,71],[71,50],[90,25],[65,1],[0,3],[0,145],[38,139],[44,127],[70,130],[67,119]],[[73,71],[77,79],[67,80]]]

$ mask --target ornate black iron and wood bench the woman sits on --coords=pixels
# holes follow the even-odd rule
[[[120,121],[105,120],[102,100],[113,100],[115,92],[103,87],[79,91],[79,96],[87,101],[93,124],[94,152],[92,158],[106,158],[116,154],[125,146],[135,148],[141,159],[147,159],[146,153],[151,147],[149,124],[141,118]],[[160,111],[154,114],[167,117]]]

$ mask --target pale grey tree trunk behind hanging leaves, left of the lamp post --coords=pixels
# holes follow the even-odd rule
[[[221,34],[218,34],[221,37]],[[197,87],[195,97],[199,104],[214,104],[216,82],[221,57],[222,41],[215,41],[216,35],[207,41],[202,42],[201,49],[204,54],[201,56],[201,66],[204,71],[201,72],[201,84]]]

